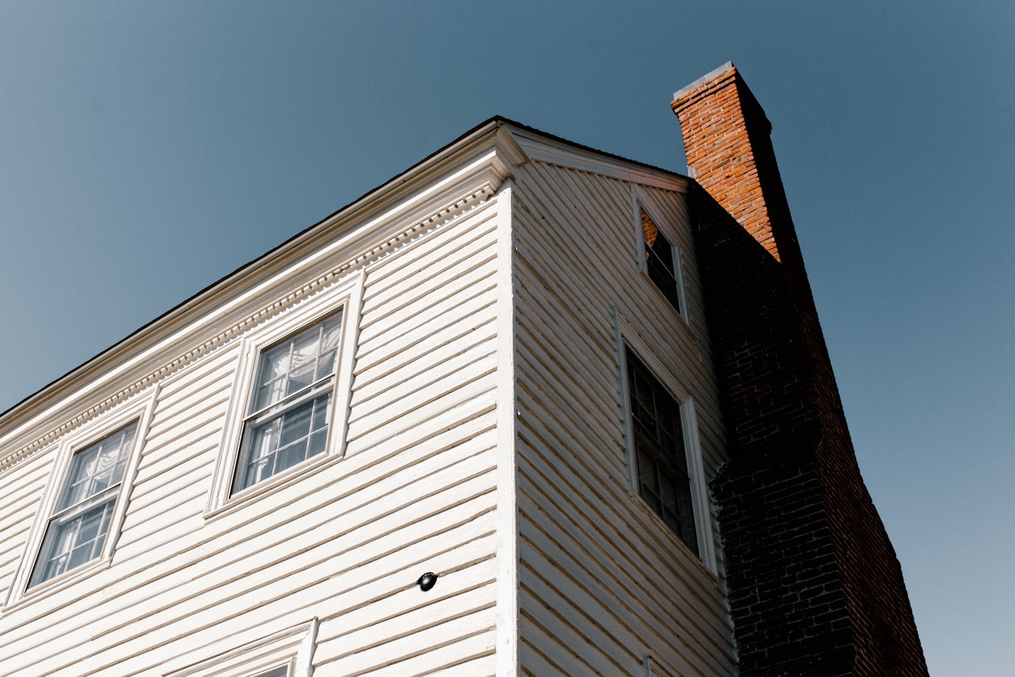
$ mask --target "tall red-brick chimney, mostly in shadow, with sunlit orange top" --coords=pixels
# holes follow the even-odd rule
[[[712,483],[744,675],[926,675],[857,466],[771,124],[732,63],[674,94],[727,405]]]

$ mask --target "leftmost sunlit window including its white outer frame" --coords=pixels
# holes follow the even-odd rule
[[[62,437],[7,605],[109,566],[154,405],[154,389]]]

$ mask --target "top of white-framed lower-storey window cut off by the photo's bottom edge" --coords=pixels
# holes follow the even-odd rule
[[[172,669],[164,677],[312,677],[319,623],[314,618],[287,627]],[[223,636],[229,636],[228,629]]]

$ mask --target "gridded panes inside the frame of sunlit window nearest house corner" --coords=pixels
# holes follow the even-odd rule
[[[232,493],[327,449],[342,315],[262,351]]]

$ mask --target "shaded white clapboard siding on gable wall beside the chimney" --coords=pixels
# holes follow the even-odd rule
[[[628,182],[541,161],[516,182],[522,672],[731,674],[722,581],[626,474],[614,306],[691,392],[707,477],[725,457],[684,197],[637,188],[680,234],[690,322],[637,269]]]

